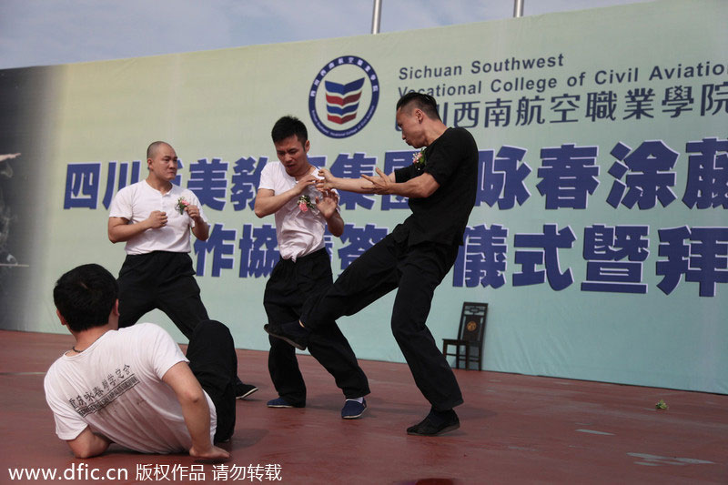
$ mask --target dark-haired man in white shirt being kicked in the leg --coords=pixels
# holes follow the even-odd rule
[[[332,284],[331,262],[324,231],[339,237],[344,221],[339,215],[339,196],[314,188],[317,168],[308,162],[308,131],[292,116],[283,116],[271,132],[279,162],[268,162],[260,174],[255,203],[258,217],[276,215],[280,259],[268,279],[263,297],[268,322],[298,318],[307,305]],[[296,349],[279,338],[268,338],[268,371],[278,391],[269,408],[302,408],[306,384],[298,369]],[[361,416],[367,403],[369,381],[359,368],[349,341],[336,322],[309,340],[308,350],[336,379],[346,398],[343,419]]]

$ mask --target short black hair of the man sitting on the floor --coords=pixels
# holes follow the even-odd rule
[[[80,332],[108,323],[118,293],[116,278],[106,268],[87,264],[58,278],[53,288],[53,302],[68,328]]]

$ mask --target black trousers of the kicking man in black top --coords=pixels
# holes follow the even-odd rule
[[[343,315],[397,289],[391,329],[412,377],[434,409],[462,404],[460,386],[426,322],[435,288],[458,256],[457,245],[408,244],[399,226],[346,268],[329,290],[310,303],[301,321],[315,335]]]

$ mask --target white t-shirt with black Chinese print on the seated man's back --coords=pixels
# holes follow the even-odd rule
[[[174,390],[162,381],[187,362],[163,328],[152,323],[110,330],[77,355],[62,355],[45,374],[45,400],[61,440],[89,426],[109,440],[142,453],[189,450],[192,440]],[[217,414],[212,399],[210,440]]]

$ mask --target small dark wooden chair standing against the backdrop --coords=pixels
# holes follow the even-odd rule
[[[470,369],[470,362],[478,362],[478,370],[482,370],[483,338],[485,337],[485,316],[488,303],[462,304],[458,338],[442,339],[442,354],[455,358],[455,369],[460,369],[460,361],[465,363],[464,369]],[[450,346],[455,353],[448,353]]]

